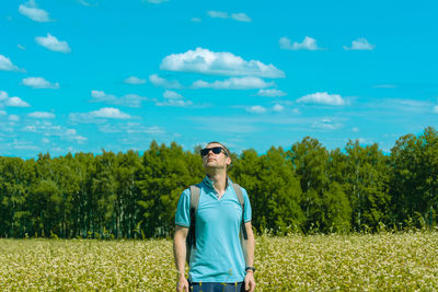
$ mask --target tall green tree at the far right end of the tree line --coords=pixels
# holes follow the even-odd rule
[[[433,223],[438,209],[438,135],[428,127],[418,137],[406,135],[391,150],[393,220]]]

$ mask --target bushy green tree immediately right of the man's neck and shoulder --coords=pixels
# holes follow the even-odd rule
[[[243,151],[230,175],[249,194],[256,230],[285,233],[301,229],[304,221],[299,207],[301,188],[281,148],[272,148],[262,156],[254,150]]]

